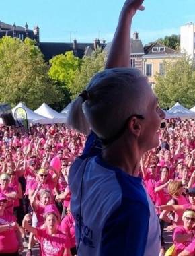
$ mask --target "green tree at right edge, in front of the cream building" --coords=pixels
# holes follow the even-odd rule
[[[176,102],[192,108],[195,102],[195,68],[188,57],[164,62],[165,75],[155,77],[155,92],[162,108],[170,108]]]

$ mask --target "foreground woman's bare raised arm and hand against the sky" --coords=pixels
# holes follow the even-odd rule
[[[112,40],[112,46],[106,62],[106,69],[112,67],[130,67],[130,27],[137,10],[143,10],[144,0],[126,0]]]

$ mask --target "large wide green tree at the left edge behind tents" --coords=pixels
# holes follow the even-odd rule
[[[0,100],[15,106],[24,102],[35,109],[43,102],[61,100],[61,92],[48,77],[48,65],[33,40],[0,40]]]

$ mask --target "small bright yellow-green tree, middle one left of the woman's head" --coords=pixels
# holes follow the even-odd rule
[[[75,57],[73,51],[56,55],[50,60],[48,75],[60,86],[65,95],[71,91],[77,71],[80,70],[82,60]]]

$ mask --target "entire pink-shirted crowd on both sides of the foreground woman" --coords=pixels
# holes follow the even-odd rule
[[[0,255],[17,255],[24,241],[28,256],[35,243],[42,255],[76,255],[68,174],[85,136],[65,126],[34,125],[28,131],[2,126],[0,137]],[[161,224],[161,255],[165,227],[173,230],[177,253],[195,255],[194,138],[195,121],[173,119],[159,130],[159,147],[141,160],[141,176]],[[51,164],[56,156],[59,171]]]

